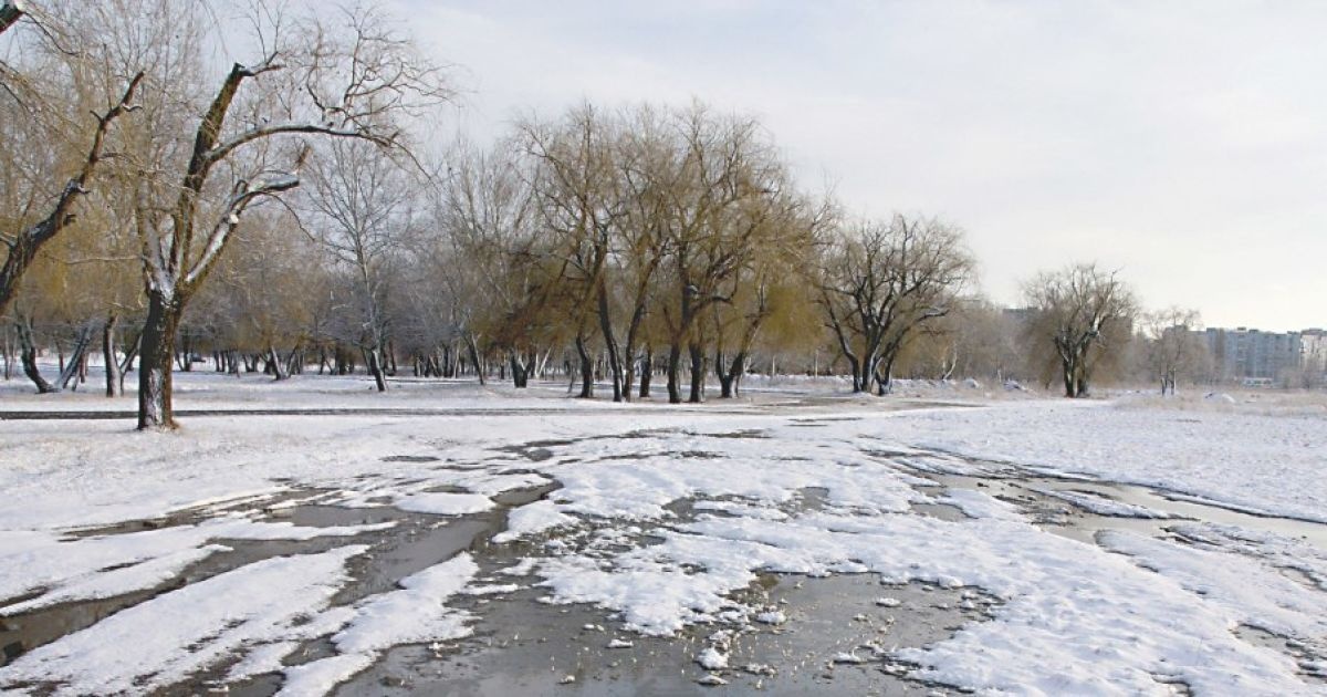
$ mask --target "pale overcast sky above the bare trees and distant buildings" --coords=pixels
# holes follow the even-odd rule
[[[1209,327],[1327,325],[1327,3],[397,4],[476,138],[698,97],[849,211],[965,228],[999,303],[1096,260]]]

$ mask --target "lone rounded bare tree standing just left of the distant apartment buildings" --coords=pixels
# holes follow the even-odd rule
[[[1048,341],[1059,364],[1066,397],[1087,397],[1103,357],[1119,353],[1132,335],[1137,303],[1133,292],[1096,264],[1042,272],[1023,285],[1034,311],[1030,331]]]

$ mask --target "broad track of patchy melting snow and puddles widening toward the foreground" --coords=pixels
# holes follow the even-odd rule
[[[1327,526],[734,418],[3,531],[0,689],[1327,693]]]

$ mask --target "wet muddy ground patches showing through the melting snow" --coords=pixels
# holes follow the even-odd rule
[[[796,425],[815,427],[817,420],[803,418]],[[729,435],[762,437],[759,431],[735,431]],[[511,446],[510,451],[537,462],[552,457],[551,449],[561,445],[569,443],[529,442]],[[932,482],[918,485],[926,494],[940,497],[954,489],[983,491],[1015,504],[1044,530],[1087,544],[1095,544],[1103,531],[1115,530],[1173,539],[1178,535],[1177,524],[1201,522],[1275,532],[1327,550],[1327,526],[1213,506],[1176,493],[1082,478],[1047,477],[1009,463],[958,463],[965,465],[967,471],[978,473],[959,474],[965,467],[910,462],[893,453],[876,455],[901,463],[900,469]],[[622,632],[620,623],[608,611],[541,603],[539,599],[544,592],[531,587],[537,579],[502,575],[503,570],[519,559],[537,556],[544,551],[537,540],[498,546],[492,544],[491,538],[506,528],[507,512],[512,507],[537,501],[553,490],[556,485],[508,491],[494,497],[499,503],[495,510],[464,516],[409,514],[387,506],[344,507],[329,503],[326,491],[292,490],[261,499],[236,499],[179,511],[154,520],[70,531],[72,536],[115,535],[191,524],[236,511],[313,527],[395,523],[387,531],[365,532],[353,538],[301,542],[216,540],[232,550],[214,554],[155,588],[0,617],[0,648],[4,649],[0,665],[35,647],[90,627],[119,609],[188,583],[260,559],[318,552],[353,543],[370,544],[373,550],[352,560],[349,572],[353,581],[337,593],[334,604],[350,604],[369,595],[391,591],[401,579],[460,551],[470,551],[480,566],[478,583],[515,580],[523,588],[498,596],[458,596],[451,604],[478,616],[474,636],[445,645],[390,649],[370,669],[341,685],[337,694],[342,696],[701,694],[711,690],[760,690],[771,694],[949,694],[958,690],[909,678],[909,666],[893,661],[889,652],[943,640],[965,624],[986,621],[998,609],[993,599],[978,588],[940,588],[918,583],[882,587],[873,574],[828,578],[764,575],[759,583],[735,593],[739,596],[736,600],[747,605],[779,608],[787,615],[787,623],[698,625],[673,639]],[[803,490],[786,512],[817,510],[824,504],[824,490],[817,489]],[[1131,515],[1107,514],[1100,507],[1082,503],[1075,495],[1095,497],[1137,510]],[[678,516],[677,520],[686,520],[697,514],[693,503],[674,502],[669,510]],[[913,508],[921,515],[950,520],[963,518],[959,508],[945,503],[918,503]],[[1154,516],[1140,516],[1141,508]],[[714,515],[718,511],[705,508],[705,512]],[[648,538],[646,530],[634,543],[649,544]],[[882,593],[900,603],[896,607],[877,605],[874,600]],[[8,599],[0,604],[0,613],[5,604],[19,600],[23,599]],[[1315,661],[1323,660],[1312,647],[1263,629],[1245,627],[1239,636],[1292,656],[1304,665],[1315,665]],[[727,647],[729,666],[706,670],[695,658],[702,649],[717,641]],[[333,651],[325,639],[309,641],[287,662],[293,665],[317,660]],[[835,661],[835,656],[841,660]],[[239,696],[268,696],[280,689],[281,678],[275,674],[226,685],[222,680],[228,668],[226,664],[218,665],[165,693],[226,690]],[[1315,674],[1312,669],[1306,669],[1304,676],[1312,681],[1327,681],[1327,676]],[[702,684],[703,680],[710,680],[714,685]],[[41,692],[41,686],[37,688]]]

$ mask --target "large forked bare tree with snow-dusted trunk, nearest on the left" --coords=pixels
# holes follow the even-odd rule
[[[137,9],[137,21],[155,19],[151,8]],[[179,36],[202,31],[200,23],[188,20],[198,9],[174,4],[169,9],[170,17],[184,20],[165,40],[196,42],[196,35]],[[394,146],[398,114],[447,97],[439,72],[391,33],[377,13],[333,15],[336,25],[320,17],[292,20],[259,4],[252,15],[252,39],[260,50],[256,62],[234,64],[210,96],[188,86],[158,85],[171,94],[175,113],[198,109],[200,118],[187,141],[180,138],[187,130],[158,133],[153,139],[169,146],[135,153],[142,173],[135,223],[147,295],[138,384],[141,429],[175,425],[173,354],[184,308],[244,212],[299,186],[307,154],[299,138]],[[158,69],[143,68],[150,76]]]

